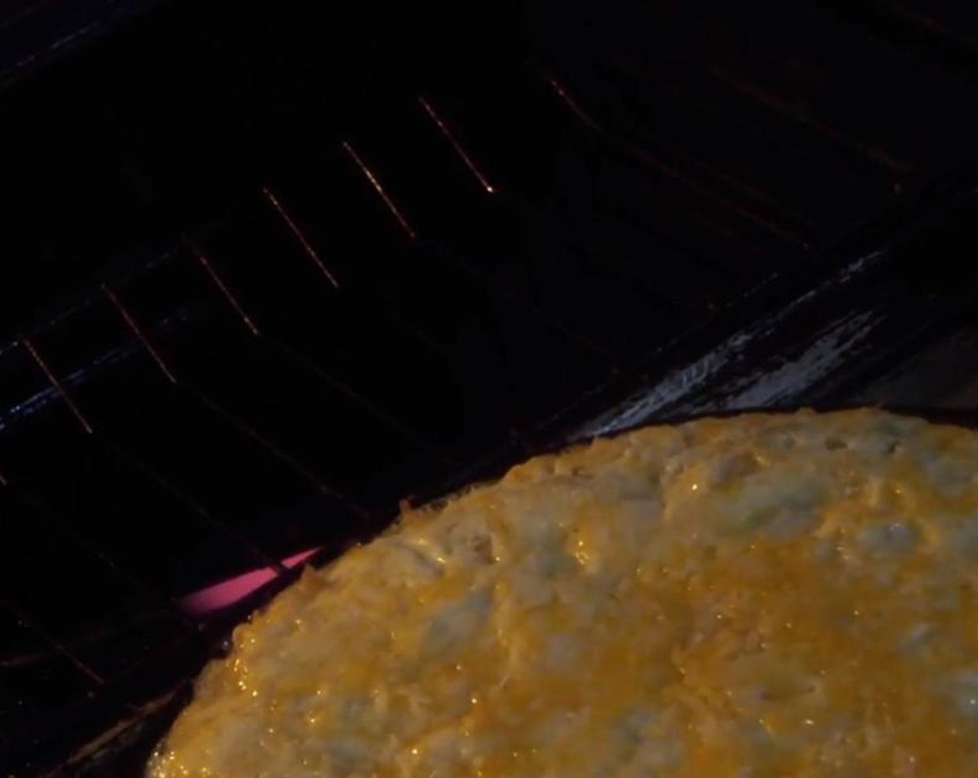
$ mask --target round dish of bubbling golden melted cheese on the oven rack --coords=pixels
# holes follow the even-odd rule
[[[533,459],[305,572],[149,775],[978,775],[978,435],[750,414]]]

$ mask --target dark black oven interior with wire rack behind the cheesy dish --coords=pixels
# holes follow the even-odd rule
[[[932,5],[0,7],[47,41],[0,55],[0,772],[138,775],[402,500],[652,419],[974,407],[978,13]]]

